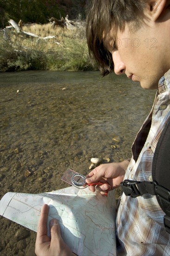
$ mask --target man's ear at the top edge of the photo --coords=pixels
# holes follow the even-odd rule
[[[156,21],[166,8],[167,0],[148,0],[146,13],[153,21]]]

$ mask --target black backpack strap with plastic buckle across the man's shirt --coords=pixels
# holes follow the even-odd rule
[[[165,213],[165,229],[170,233],[170,118],[166,121],[157,142],[152,163],[152,178],[153,182],[124,180],[120,186],[127,196],[156,195]]]

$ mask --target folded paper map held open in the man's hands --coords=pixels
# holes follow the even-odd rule
[[[40,210],[46,203],[49,221],[59,221],[65,243],[78,256],[116,255],[115,199],[88,188],[69,187],[42,194],[8,192],[0,201],[0,215],[37,232]],[[50,230],[48,228],[48,235]]]

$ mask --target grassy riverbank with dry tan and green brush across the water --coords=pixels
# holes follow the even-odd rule
[[[23,27],[23,31],[39,37],[0,31],[0,72],[23,70],[86,71],[96,70],[89,58],[85,27],[68,30],[51,24]]]

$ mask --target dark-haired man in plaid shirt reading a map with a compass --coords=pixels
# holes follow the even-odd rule
[[[116,74],[140,81],[142,88],[157,89],[153,108],[132,145],[131,160],[100,165],[86,182],[104,182],[100,186],[104,194],[125,179],[152,181],[153,155],[170,116],[170,0],[92,0],[86,35],[90,55],[103,75],[114,67]],[[47,213],[45,205],[40,224],[46,224]],[[123,194],[116,218],[118,255],[170,255],[163,216],[156,196]],[[46,232],[37,234],[36,254],[72,255],[57,232],[57,221],[53,222],[51,242]]]

